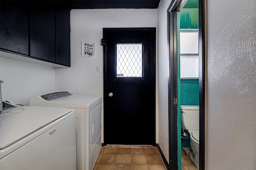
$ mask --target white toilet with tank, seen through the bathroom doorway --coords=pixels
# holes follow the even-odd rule
[[[181,105],[181,128],[190,133],[190,159],[199,169],[199,106]]]

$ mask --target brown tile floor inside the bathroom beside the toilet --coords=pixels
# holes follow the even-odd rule
[[[189,153],[192,149],[189,147],[181,148],[181,169],[182,170],[198,170],[191,162]]]

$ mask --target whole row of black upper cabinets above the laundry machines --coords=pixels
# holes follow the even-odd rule
[[[0,1],[0,48],[70,66],[70,10],[61,0]]]

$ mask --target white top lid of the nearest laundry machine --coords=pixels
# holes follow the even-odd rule
[[[45,125],[73,112],[59,107],[24,106],[25,110],[0,114],[0,149],[30,135]]]

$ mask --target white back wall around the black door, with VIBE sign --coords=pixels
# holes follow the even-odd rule
[[[55,68],[55,90],[103,98],[103,28],[157,27],[157,15],[157,9],[71,10],[71,67]],[[95,42],[94,56],[81,57],[81,41]]]

